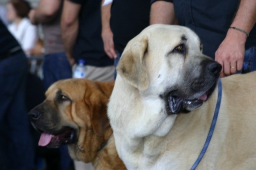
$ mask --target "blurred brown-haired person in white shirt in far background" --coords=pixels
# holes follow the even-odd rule
[[[38,30],[33,26],[28,17],[31,7],[25,0],[10,0],[7,3],[7,20],[11,22],[9,31],[20,43],[23,51],[30,55],[30,50],[38,40]]]

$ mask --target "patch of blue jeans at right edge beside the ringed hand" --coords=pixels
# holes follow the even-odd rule
[[[248,73],[251,71],[256,71],[256,46],[245,51],[243,68],[238,73]]]

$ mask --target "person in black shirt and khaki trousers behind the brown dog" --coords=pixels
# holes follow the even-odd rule
[[[84,59],[85,78],[114,79],[114,62],[105,54],[101,38],[101,0],[64,0],[61,33],[70,65]]]

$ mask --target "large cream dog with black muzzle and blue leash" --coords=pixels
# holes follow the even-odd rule
[[[116,149],[128,170],[192,167],[211,126],[220,70],[185,27],[149,26],[128,43],[108,105]],[[256,73],[221,82],[215,131],[197,169],[255,170]]]

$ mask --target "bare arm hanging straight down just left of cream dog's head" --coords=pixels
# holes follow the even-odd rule
[[[102,4],[105,0],[102,0]],[[101,17],[102,17],[102,40],[104,44],[104,51],[110,57],[111,59],[114,59],[117,57],[115,46],[113,42],[113,32],[110,28],[110,17],[111,17],[111,5],[112,3],[109,3],[108,5],[102,5],[101,7]]]

